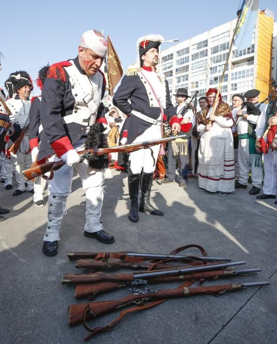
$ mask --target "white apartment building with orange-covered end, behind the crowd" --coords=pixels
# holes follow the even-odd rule
[[[262,11],[262,15],[267,19],[270,18],[273,23],[273,12],[269,10]],[[262,28],[263,25],[260,24],[263,20],[263,18],[260,19],[260,15],[257,16],[255,31],[248,49],[238,52],[235,45],[232,47],[232,53],[221,86],[222,100],[227,103],[231,103],[233,94],[243,94],[248,89],[256,86],[257,75],[259,75],[257,72],[260,68],[258,66],[260,64],[258,63],[258,50],[262,49],[261,44],[260,48],[257,48],[259,47],[257,44],[258,36],[261,39],[258,30],[262,32],[265,30]],[[169,83],[171,96],[176,93],[178,88],[187,88],[191,96],[198,90],[198,97],[200,97],[205,95],[209,87],[218,87],[236,21],[234,19],[166,50],[161,45],[161,69]],[[267,26],[267,23],[265,26]],[[266,30],[268,31],[268,28]],[[269,35],[269,32],[267,34]],[[272,33],[270,33],[270,37],[272,40]],[[277,48],[275,53],[277,54]],[[268,62],[269,79],[270,60],[271,58]],[[277,56],[275,61],[277,61]],[[261,87],[261,85],[259,86]],[[267,90],[266,93],[268,93]],[[175,103],[174,96],[172,96],[172,101]]]

